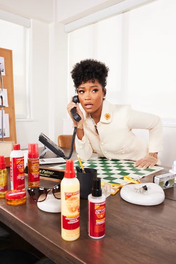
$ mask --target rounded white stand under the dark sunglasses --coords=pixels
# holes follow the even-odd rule
[[[49,213],[61,212],[61,199],[56,199],[53,194],[48,194],[43,202],[37,202],[39,209]]]

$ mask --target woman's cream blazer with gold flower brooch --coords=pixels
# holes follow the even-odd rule
[[[149,152],[162,151],[159,116],[132,110],[129,105],[112,105],[105,100],[97,133],[89,115],[84,110],[83,113],[85,135],[82,140],[75,138],[76,152],[82,160],[88,160],[93,152],[108,159],[138,160]],[[149,144],[132,129],[149,130]]]

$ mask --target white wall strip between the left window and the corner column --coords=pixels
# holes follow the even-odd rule
[[[38,142],[41,132],[48,134],[48,24],[31,20],[29,29],[29,90],[31,119],[16,122],[21,148]]]

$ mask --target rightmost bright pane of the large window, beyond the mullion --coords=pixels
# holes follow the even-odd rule
[[[176,1],[158,0],[129,12],[127,103],[176,118]]]

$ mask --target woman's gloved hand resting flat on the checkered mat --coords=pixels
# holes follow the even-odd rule
[[[138,168],[152,168],[158,161],[157,153],[149,153],[147,157],[141,158],[134,163],[134,167]]]

